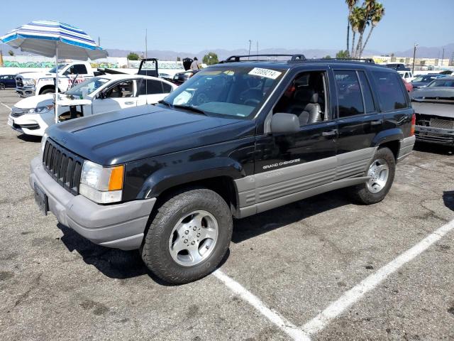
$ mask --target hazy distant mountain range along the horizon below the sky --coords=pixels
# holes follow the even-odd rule
[[[443,48],[445,49],[444,58],[453,58],[454,53],[454,43],[450,43],[448,45],[443,45],[439,47],[425,47],[419,46],[416,50],[416,57],[419,58],[441,58],[443,54]],[[13,49],[11,46],[6,44],[0,44],[0,50],[3,52],[3,55],[7,56],[9,50],[13,50],[15,55],[26,55],[29,53],[23,53],[21,50]],[[121,50],[115,48],[107,48],[109,52],[109,57],[126,57],[128,53],[135,52],[139,56],[142,55],[142,51],[131,51],[131,50]],[[260,54],[297,54],[302,53],[306,56],[306,58],[322,58],[326,55],[331,55],[331,57],[336,56],[336,53],[339,49],[286,49],[286,48],[267,48],[259,50]],[[180,58],[203,58],[206,53],[214,52],[218,55],[219,60],[223,60],[228,58],[230,55],[248,55],[248,50],[246,49],[237,49],[237,50],[226,50],[226,49],[213,49],[213,50],[201,50],[197,53],[194,52],[187,52],[187,51],[174,51],[174,50],[148,50],[148,57],[154,57],[160,60],[176,60],[177,57]],[[255,50],[250,51],[251,55],[257,53]],[[377,50],[365,50],[363,53],[364,56],[372,56],[372,55],[389,55],[394,53],[394,55],[399,57],[412,57],[413,56],[413,48],[409,48],[408,50],[402,51],[392,51],[392,52],[382,52]]]

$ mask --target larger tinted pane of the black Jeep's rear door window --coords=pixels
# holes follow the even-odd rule
[[[355,71],[335,71],[339,117],[364,113],[360,83]]]

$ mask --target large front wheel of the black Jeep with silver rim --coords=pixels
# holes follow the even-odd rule
[[[210,274],[226,254],[233,219],[212,190],[184,190],[158,209],[141,248],[145,265],[168,283],[189,283]]]

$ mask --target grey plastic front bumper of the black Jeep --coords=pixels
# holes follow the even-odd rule
[[[44,169],[41,159],[31,161],[30,185],[48,196],[49,210],[57,220],[94,244],[116,249],[138,249],[156,198],[115,205],[98,205],[82,195],[72,195]]]

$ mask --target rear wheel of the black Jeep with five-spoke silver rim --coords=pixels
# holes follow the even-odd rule
[[[387,147],[378,148],[367,167],[371,179],[350,188],[350,196],[364,205],[382,201],[391,188],[395,172],[396,160],[392,151]]]

